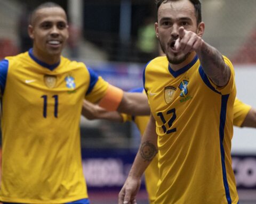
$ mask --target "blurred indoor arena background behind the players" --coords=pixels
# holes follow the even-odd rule
[[[31,47],[31,8],[39,0],[0,0],[0,58]],[[59,0],[69,15],[64,56],[83,61],[124,90],[142,87],[142,71],[157,56],[153,0]],[[233,62],[237,97],[256,107],[256,0],[202,0],[203,39]],[[26,128],[26,127],[25,127]],[[117,203],[140,142],[131,123],[81,120],[84,175],[92,204]],[[256,203],[256,130],[235,128],[233,167],[240,204]],[[138,203],[147,203],[142,184]]]

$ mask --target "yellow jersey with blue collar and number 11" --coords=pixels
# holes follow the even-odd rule
[[[98,101],[108,83],[85,64],[61,57],[47,65],[33,50],[0,62],[0,200],[65,203],[87,198],[79,122],[83,99]]]

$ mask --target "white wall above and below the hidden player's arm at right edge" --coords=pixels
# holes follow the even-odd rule
[[[234,65],[234,67],[237,97],[256,108],[256,64]],[[256,129],[235,127],[231,152],[256,155]]]

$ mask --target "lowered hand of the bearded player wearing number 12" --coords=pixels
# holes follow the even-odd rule
[[[140,189],[141,180],[128,176],[119,192],[118,204],[137,204],[136,195]]]

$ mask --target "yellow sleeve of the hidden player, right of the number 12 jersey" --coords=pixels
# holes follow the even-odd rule
[[[251,108],[252,108],[251,106],[244,104],[242,101],[236,98],[234,103],[234,110],[233,110],[234,112],[233,124],[235,126],[241,127],[246,115],[249,113]]]

